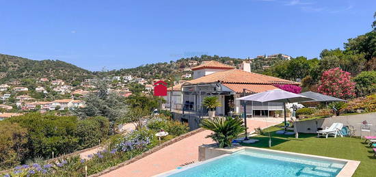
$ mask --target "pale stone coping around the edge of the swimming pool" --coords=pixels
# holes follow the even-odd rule
[[[209,148],[209,147],[207,147],[207,148]],[[341,176],[341,177],[342,176],[343,177],[351,177],[351,176],[353,176],[353,174],[355,173],[356,169],[358,169],[358,166],[360,165],[360,161],[353,161],[353,160],[349,160],[349,159],[339,159],[339,158],[334,158],[334,157],[329,157],[329,156],[318,156],[318,155],[303,154],[303,153],[297,153],[297,152],[287,152],[287,151],[282,151],[282,150],[270,150],[270,149],[265,149],[265,148],[254,148],[254,147],[250,147],[250,146],[237,147],[236,150],[234,150],[234,149],[224,149],[224,148],[217,148],[217,149],[227,151],[228,154],[222,154],[222,155],[216,156],[216,157],[214,157],[212,159],[208,159],[206,161],[199,161],[197,163],[193,163],[193,164],[187,165],[187,166],[184,167],[184,170],[196,167],[198,165],[202,165],[204,163],[209,163],[209,162],[215,161],[217,159],[221,159],[224,156],[229,156],[229,155],[231,155],[231,154],[233,154],[235,152],[239,152],[241,150],[246,150],[246,149],[261,150],[261,151],[265,151],[265,152],[277,152],[277,153],[282,153],[282,154],[291,154],[291,155],[295,155],[295,156],[306,156],[306,157],[310,157],[311,159],[312,158],[313,159],[326,159],[326,160],[330,160],[330,161],[345,162],[345,166],[337,174],[337,176]],[[171,169],[170,171],[163,172],[161,174],[157,174],[157,175],[152,176],[152,177],[165,177],[165,176],[170,176],[172,174],[176,174],[176,173],[182,172],[182,171],[183,170]]]

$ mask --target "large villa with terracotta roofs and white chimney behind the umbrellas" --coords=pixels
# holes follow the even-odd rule
[[[239,114],[243,113],[242,103],[235,99],[243,94],[273,90],[277,88],[274,86],[276,84],[300,84],[250,72],[248,62],[243,62],[241,68],[243,70],[215,61],[193,67],[193,80],[175,85],[172,90],[168,89],[165,107],[170,108],[171,102],[172,109],[196,111],[205,115],[206,109],[201,104],[202,100],[206,96],[217,96],[222,105],[217,107],[217,115],[229,115],[230,111]],[[282,109],[282,103],[247,103],[247,115],[269,115],[269,111]]]

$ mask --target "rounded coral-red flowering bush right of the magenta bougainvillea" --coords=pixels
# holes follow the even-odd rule
[[[323,72],[317,90],[329,96],[351,98],[355,96],[355,83],[351,81],[350,72],[332,68]]]

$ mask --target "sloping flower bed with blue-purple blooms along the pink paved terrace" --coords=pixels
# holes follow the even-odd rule
[[[167,114],[167,115],[166,115]],[[161,139],[168,141],[189,131],[187,124],[172,120],[169,113],[161,113],[148,119],[144,126],[125,135],[110,136],[104,144],[107,148],[88,155],[88,159],[79,156],[62,156],[57,161],[27,161],[11,171],[3,172],[5,176],[85,176],[102,172],[124,161],[133,159],[159,145],[155,133],[167,131],[169,135]],[[87,169],[85,171],[85,169]]]

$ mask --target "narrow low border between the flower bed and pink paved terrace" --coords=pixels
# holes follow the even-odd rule
[[[97,174],[92,174],[92,175],[90,175],[90,177],[102,176],[102,175],[107,174],[107,173],[109,173],[113,170],[119,169],[120,167],[124,167],[125,165],[129,165],[131,163],[134,163],[135,161],[138,161],[139,159],[143,159],[144,157],[146,157],[146,156],[148,156],[148,155],[150,155],[154,152],[157,152],[158,150],[161,150],[162,148],[170,146],[171,144],[174,144],[174,143],[176,143],[176,142],[178,142],[182,139],[185,139],[187,137],[190,137],[190,136],[195,135],[197,133],[200,133],[202,131],[204,131],[204,128],[198,128],[194,131],[190,131],[189,133],[185,133],[183,135],[175,137],[174,139],[171,139],[169,141],[165,141],[163,144],[160,144],[159,146],[155,146],[154,148],[152,148],[152,149],[150,149],[150,150],[148,150],[148,151],[146,151],[142,154],[139,154],[138,156],[135,156],[132,159],[129,159],[128,161],[124,161],[124,162],[122,162],[118,165],[115,165],[113,167],[109,167],[109,168],[107,168],[107,169],[105,169],[102,172],[99,172]]]

